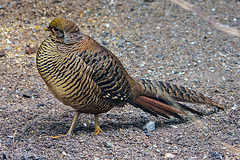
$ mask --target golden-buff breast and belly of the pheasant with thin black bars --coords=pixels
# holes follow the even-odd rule
[[[37,67],[43,80],[57,99],[76,110],[105,112],[110,101],[92,78],[92,68],[74,52],[74,48],[43,43],[37,54]]]

